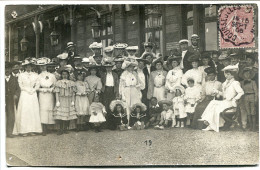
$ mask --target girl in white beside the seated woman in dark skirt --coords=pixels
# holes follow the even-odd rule
[[[188,78],[187,81],[188,88],[185,89],[184,101],[186,103],[185,112],[187,114],[186,125],[190,125],[195,108],[202,98],[202,86],[199,84],[194,85],[193,78]]]

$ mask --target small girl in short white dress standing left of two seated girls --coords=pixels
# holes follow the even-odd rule
[[[94,101],[90,105],[89,122],[94,124],[95,132],[102,132],[101,124],[106,121],[107,114],[105,106],[99,102],[99,96],[94,96]]]

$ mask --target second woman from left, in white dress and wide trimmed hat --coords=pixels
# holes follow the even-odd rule
[[[55,96],[53,89],[56,83],[55,75],[47,72],[47,64],[50,59],[43,57],[36,61],[36,65],[40,66],[41,73],[39,74],[39,106],[42,123],[42,135],[47,134],[47,125],[55,124],[53,118],[53,109],[55,107]]]

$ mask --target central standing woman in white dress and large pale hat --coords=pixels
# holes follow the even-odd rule
[[[122,68],[125,71],[120,77],[119,95],[126,102],[127,119],[129,122],[131,107],[136,103],[141,103],[141,83],[134,67],[138,65],[137,61],[132,58],[126,58]]]

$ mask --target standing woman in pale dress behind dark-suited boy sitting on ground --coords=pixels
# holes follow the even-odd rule
[[[165,80],[167,72],[163,70],[163,60],[158,58],[153,61],[156,70],[151,72],[149,77],[147,98],[150,100],[156,97],[158,101],[166,99]]]

